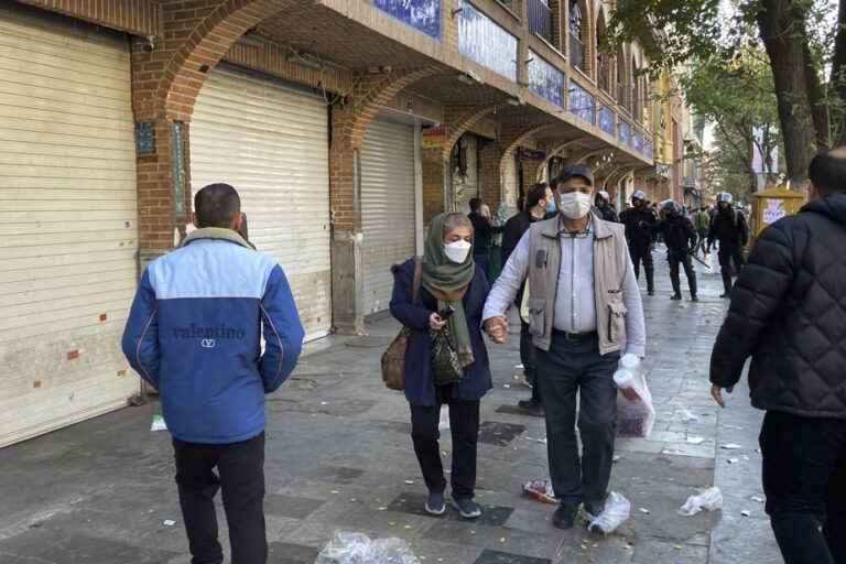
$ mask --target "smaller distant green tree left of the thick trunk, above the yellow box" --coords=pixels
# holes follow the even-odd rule
[[[744,47],[728,62],[718,56],[694,61],[681,87],[687,104],[714,126],[719,144],[713,164],[717,176],[730,177],[727,192],[756,191],[753,150],[764,156],[770,177],[778,173],[769,156],[781,141],[779,113],[772,73],[759,48]]]

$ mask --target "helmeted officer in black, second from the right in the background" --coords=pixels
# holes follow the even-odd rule
[[[662,204],[662,219],[655,230],[660,232],[666,245],[666,260],[670,262],[670,282],[673,285],[671,300],[682,299],[682,281],[679,265],[684,267],[687,286],[691,290],[691,302],[698,302],[696,296],[696,271],[693,269],[692,256],[696,249],[696,230],[682,209],[672,199]]]

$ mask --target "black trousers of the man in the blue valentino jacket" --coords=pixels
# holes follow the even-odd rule
[[[221,564],[215,495],[223,490],[232,564],[264,564],[264,433],[221,445],[173,441],[180,505],[192,564]],[[217,468],[219,478],[215,475]]]

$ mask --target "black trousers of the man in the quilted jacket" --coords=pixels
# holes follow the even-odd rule
[[[846,562],[846,420],[768,411],[767,513],[787,564]]]

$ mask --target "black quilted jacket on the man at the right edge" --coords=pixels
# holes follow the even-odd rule
[[[737,383],[751,357],[752,405],[846,419],[846,194],[768,227],[731,293],[711,381]]]

